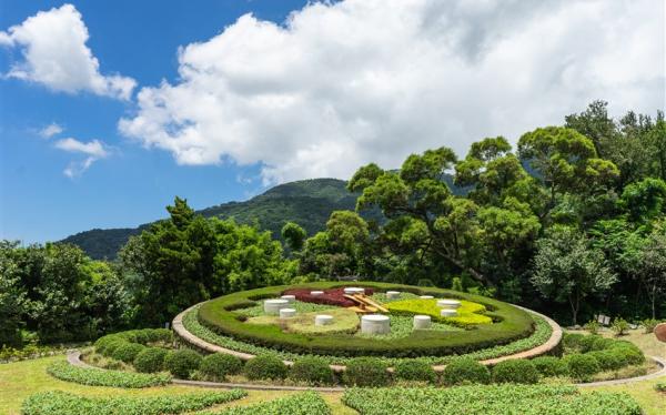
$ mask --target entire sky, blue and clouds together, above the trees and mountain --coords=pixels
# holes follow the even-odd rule
[[[666,107],[664,3],[0,0],[0,239]],[[251,13],[251,14],[248,14]],[[50,129],[47,129],[49,128]]]

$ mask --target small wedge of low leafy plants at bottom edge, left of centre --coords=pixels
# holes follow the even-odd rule
[[[303,392],[296,395],[282,397],[250,406],[236,406],[215,415],[331,415],[326,402],[316,392]]]

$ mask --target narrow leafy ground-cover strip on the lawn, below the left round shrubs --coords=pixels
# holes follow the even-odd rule
[[[171,382],[171,376],[168,374],[84,368],[73,366],[64,361],[51,363],[47,367],[47,373],[61,381],[90,386],[149,387],[162,386]]]

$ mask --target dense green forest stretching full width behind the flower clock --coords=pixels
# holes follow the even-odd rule
[[[410,155],[400,170],[361,166],[324,226],[317,215],[329,208],[309,206],[297,192],[252,200],[271,225],[248,221],[249,204],[200,214],[176,198],[169,217],[129,237],[112,262],[67,243],[4,241],[0,343],[162,325],[228,292],[343,275],[483,293],[564,324],[596,313],[659,318],[665,180],[663,113],[613,120],[597,101],[561,126],[524,133],[516,149],[495,136],[464,158],[440,148]],[[299,209],[270,211],[271,198],[281,200],[271,206]]]

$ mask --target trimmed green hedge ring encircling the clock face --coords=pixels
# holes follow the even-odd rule
[[[319,282],[297,285],[307,289],[330,289],[349,284],[340,282]],[[415,331],[411,336],[397,340],[366,338],[344,334],[306,335],[283,333],[276,325],[244,324],[233,310],[238,304],[253,298],[279,296],[283,291],[294,286],[271,286],[229,294],[201,305],[199,321],[216,333],[278,351],[301,354],[326,354],[332,356],[381,355],[389,357],[444,356],[465,354],[486,347],[506,344],[527,337],[534,332],[532,316],[509,304],[483,296],[458,293],[450,290],[424,289],[400,284],[361,282],[359,286],[373,287],[379,291],[397,290],[417,294],[457,297],[483,304],[492,310],[492,317],[497,323],[480,325],[476,328],[455,333],[437,331]]]

